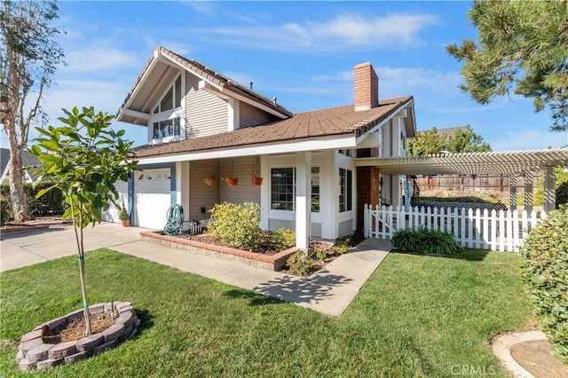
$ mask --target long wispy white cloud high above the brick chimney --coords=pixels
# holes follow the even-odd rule
[[[342,14],[333,20],[244,28],[193,28],[216,43],[233,43],[283,51],[352,51],[422,43],[422,29],[436,23],[427,14],[373,17]]]

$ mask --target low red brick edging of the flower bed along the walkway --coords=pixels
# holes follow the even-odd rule
[[[164,235],[163,232],[140,232],[140,235],[142,235],[142,240],[162,244],[162,246],[184,249],[202,256],[216,256],[229,261],[238,261],[271,271],[280,271],[286,264],[288,257],[297,250],[297,248],[288,248],[271,256],[237,248],[202,243],[201,241],[182,239],[176,236]]]

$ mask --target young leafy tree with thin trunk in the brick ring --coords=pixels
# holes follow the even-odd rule
[[[71,112],[63,109],[67,117],[59,117],[63,126],[49,126],[48,130],[36,128],[41,136],[30,151],[42,167],[38,169],[42,184],[41,197],[51,189],[63,193],[68,207],[64,218],[73,219],[75,240],[79,255],[79,272],[83,294],[86,335],[91,335],[87,291],[84,277],[83,229],[102,220],[101,210],[109,208],[109,202],[118,207],[117,180],[128,180],[129,172],[138,161],[132,161],[129,150],[133,142],[122,140],[124,130],[115,132],[110,127],[112,115],[96,113],[94,108],[83,107],[83,112],[74,107]],[[43,154],[45,151],[47,154]]]

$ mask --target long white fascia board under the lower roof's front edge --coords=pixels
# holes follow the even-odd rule
[[[294,142],[293,140],[287,144],[265,145],[265,146],[248,146],[234,149],[223,149],[219,151],[206,151],[189,154],[177,154],[168,156],[153,156],[138,158],[139,164],[160,164],[173,161],[196,161],[206,159],[218,159],[226,157],[263,155],[263,154],[290,154],[300,151],[318,151],[337,148],[353,148],[355,147],[355,138],[337,138],[337,139],[321,139],[308,140],[303,142]]]

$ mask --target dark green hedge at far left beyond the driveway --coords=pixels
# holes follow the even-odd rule
[[[63,194],[57,189],[53,189],[39,199],[36,198],[37,192],[49,185],[24,184],[24,193],[26,193],[26,201],[28,202],[29,211],[35,217],[59,216],[65,212],[65,201]],[[8,185],[0,185],[0,194],[6,201],[10,201],[10,187]]]

